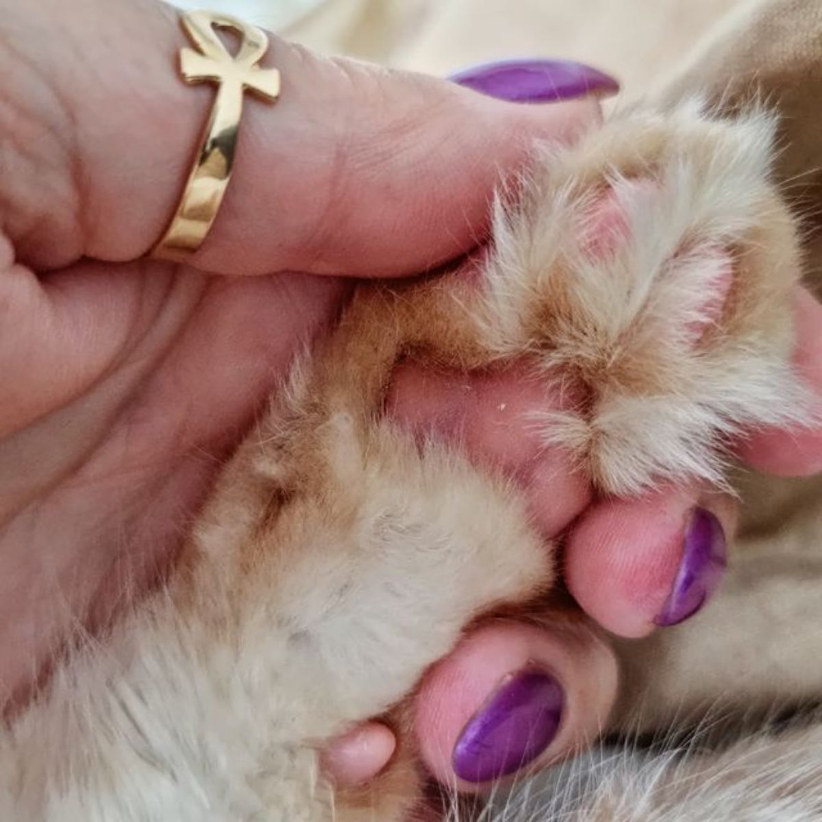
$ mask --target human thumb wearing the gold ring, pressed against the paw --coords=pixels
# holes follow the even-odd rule
[[[179,12],[150,0],[0,0],[0,10],[14,118],[0,145],[0,219],[17,259],[42,269],[150,252],[215,95],[178,75],[179,49],[191,45]],[[261,66],[279,69],[279,99],[246,95],[233,178],[191,258],[201,270],[403,275],[436,266],[483,237],[494,187],[533,141],[570,141],[596,122],[596,95],[585,92],[607,86],[594,76],[566,94],[581,99],[515,104],[498,98],[547,99],[556,72],[535,62],[523,81],[521,65],[496,67],[486,87],[467,78],[481,95],[273,35]]]

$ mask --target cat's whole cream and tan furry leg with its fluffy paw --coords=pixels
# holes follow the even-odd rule
[[[0,819],[402,818],[411,737],[361,793],[335,795],[317,751],[392,709],[401,728],[464,626],[546,595],[553,569],[513,485],[382,418],[392,367],[526,358],[583,398],[535,424],[602,490],[722,481],[729,436],[806,414],[774,122],[695,102],[615,116],[542,150],[497,208],[478,283],[361,289],[224,469],[168,587],[3,732]],[[609,190],[629,238],[593,253],[580,238]],[[706,314],[722,255],[731,288]]]

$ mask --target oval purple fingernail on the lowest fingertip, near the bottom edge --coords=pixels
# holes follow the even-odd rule
[[[476,713],[454,748],[454,770],[466,782],[487,782],[529,764],[556,737],[565,695],[550,674],[511,677]]]

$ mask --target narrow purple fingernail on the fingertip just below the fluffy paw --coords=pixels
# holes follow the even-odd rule
[[[708,601],[727,565],[725,533],[719,520],[704,508],[691,516],[682,561],[671,595],[654,620],[658,626],[678,625]]]

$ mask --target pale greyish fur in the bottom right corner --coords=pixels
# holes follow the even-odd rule
[[[816,822],[820,759],[820,724],[718,751],[700,751],[698,735],[653,753],[604,748],[496,797],[479,822]]]

